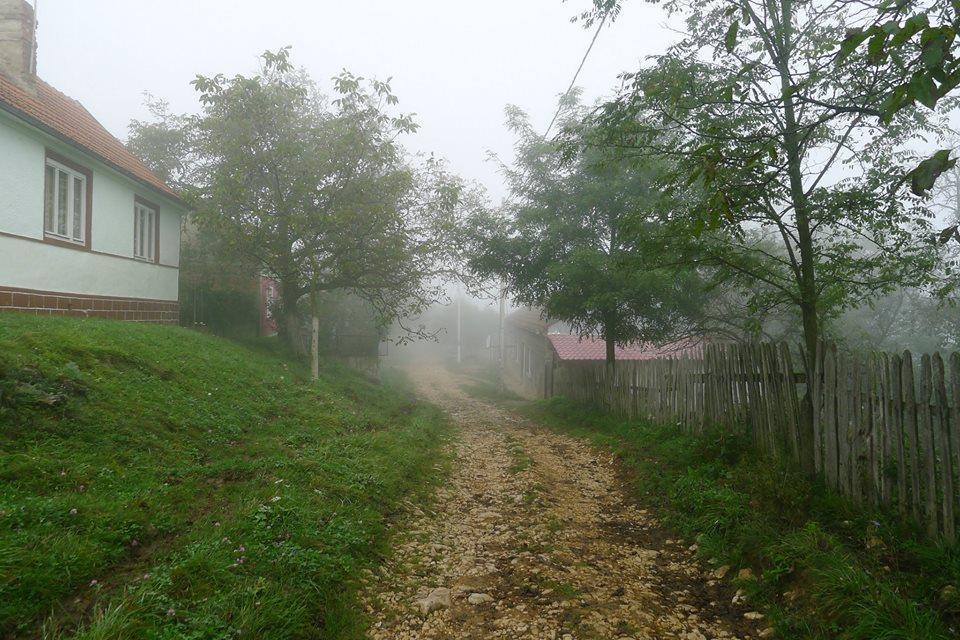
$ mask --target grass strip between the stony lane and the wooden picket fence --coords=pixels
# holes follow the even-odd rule
[[[562,399],[522,410],[623,462],[636,496],[734,579],[779,638],[939,640],[960,631],[960,552],[918,542],[883,513],[854,508],[745,439],[689,437]]]

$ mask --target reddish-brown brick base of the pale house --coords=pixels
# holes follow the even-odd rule
[[[28,291],[2,286],[0,286],[0,311],[18,311],[44,316],[108,318],[157,324],[180,322],[179,302]]]

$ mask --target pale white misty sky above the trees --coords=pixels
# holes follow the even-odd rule
[[[198,73],[250,73],[267,49],[291,45],[294,63],[324,89],[342,69],[393,77],[418,114],[413,151],[504,194],[487,151],[509,158],[503,109],[517,104],[545,129],[592,37],[570,18],[589,0],[39,0],[39,73],[80,100],[112,133],[143,118],[143,93],[197,111]],[[601,34],[578,84],[610,94],[676,38],[661,10],[628,2]]]

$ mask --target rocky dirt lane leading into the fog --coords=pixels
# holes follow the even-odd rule
[[[452,477],[368,580],[370,637],[759,638],[766,626],[690,541],[626,498],[614,461],[413,372],[455,420]]]

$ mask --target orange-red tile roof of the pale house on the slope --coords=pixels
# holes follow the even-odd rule
[[[176,192],[164,184],[130,152],[123,143],[97,122],[82,104],[43,80],[36,79],[36,95],[0,75],[0,108],[50,130],[58,137],[78,145],[88,153],[140,182],[179,200]]]

